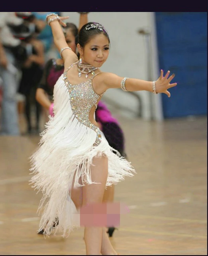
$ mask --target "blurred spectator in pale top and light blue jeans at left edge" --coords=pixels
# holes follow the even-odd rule
[[[23,20],[16,17],[14,12],[0,12],[0,77],[2,79],[0,135],[20,134],[16,104],[20,70],[12,48],[18,49],[21,41],[14,38],[8,24],[22,23]]]

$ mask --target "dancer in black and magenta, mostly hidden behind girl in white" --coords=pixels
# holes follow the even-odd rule
[[[73,23],[66,23],[64,30],[66,42],[68,46],[76,53],[75,38],[78,35],[78,31],[84,24],[88,22],[88,14],[80,13],[79,28]],[[64,61],[62,58],[50,59],[45,64],[43,76],[41,82],[37,86],[36,100],[43,106],[43,108],[49,112],[51,116],[53,113],[53,88],[58,78],[64,72]],[[99,124],[99,128],[104,133],[109,145],[118,150],[121,156],[126,157],[124,148],[124,132],[118,123],[118,120],[114,118],[108,110],[107,106],[103,102],[99,102],[95,111],[95,119]],[[104,192],[103,202],[114,201],[114,184],[108,186]],[[108,227],[107,233],[111,237],[114,233],[115,227]],[[44,229],[40,230],[38,234],[43,234]]]

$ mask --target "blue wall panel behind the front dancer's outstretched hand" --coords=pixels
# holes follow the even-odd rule
[[[207,114],[207,13],[156,12],[159,67],[178,85],[162,95],[164,118]]]

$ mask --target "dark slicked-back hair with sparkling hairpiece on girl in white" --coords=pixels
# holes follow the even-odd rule
[[[75,44],[80,44],[80,46],[84,47],[94,36],[98,34],[104,34],[109,41],[110,39],[106,29],[97,22],[88,22],[80,29],[78,35],[75,38]]]

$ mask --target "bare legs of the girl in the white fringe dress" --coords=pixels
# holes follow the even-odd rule
[[[100,182],[100,184],[85,184],[83,187],[72,188],[71,199],[77,209],[86,204],[103,202],[107,176],[108,159],[104,156],[101,158],[95,157],[91,166],[91,177],[92,181]],[[99,255],[100,253],[103,255],[117,254],[110,243],[106,228],[85,227],[84,241],[87,255]]]

